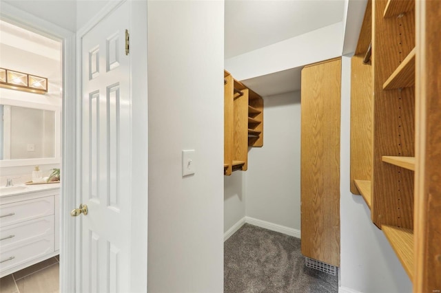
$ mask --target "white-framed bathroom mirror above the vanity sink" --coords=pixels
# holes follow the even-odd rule
[[[0,168],[61,163],[60,101],[38,98],[0,96]]]

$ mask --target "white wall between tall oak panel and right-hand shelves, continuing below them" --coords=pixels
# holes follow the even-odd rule
[[[342,57],[340,284],[360,292],[404,293],[412,284],[360,195],[349,191],[351,58]]]

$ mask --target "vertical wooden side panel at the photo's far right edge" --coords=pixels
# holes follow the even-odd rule
[[[441,1],[416,1],[413,292],[441,290]]]

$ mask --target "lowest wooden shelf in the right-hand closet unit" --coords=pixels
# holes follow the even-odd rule
[[[382,231],[391,243],[404,270],[413,280],[413,231],[393,226],[382,226]]]

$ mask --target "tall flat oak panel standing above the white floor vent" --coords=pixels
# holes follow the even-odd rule
[[[340,266],[341,58],[302,69],[302,254]]]

